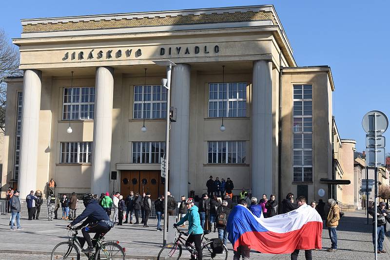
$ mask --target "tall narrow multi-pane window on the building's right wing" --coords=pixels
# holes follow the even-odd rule
[[[312,182],[312,85],[293,85],[293,181]]]

